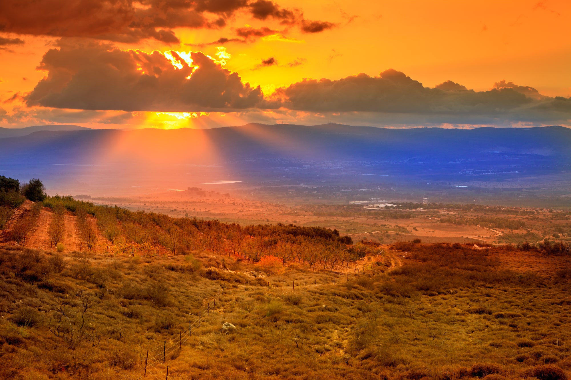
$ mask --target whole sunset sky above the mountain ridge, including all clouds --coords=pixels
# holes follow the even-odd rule
[[[564,0],[3,0],[0,127],[571,127],[569,36]]]

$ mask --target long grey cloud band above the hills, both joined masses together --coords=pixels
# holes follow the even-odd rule
[[[500,81],[488,91],[448,80],[425,87],[403,72],[358,74],[339,80],[304,79],[272,94],[243,83],[224,62],[202,52],[146,53],[112,45],[62,42],[43,56],[45,79],[26,96],[28,106],[78,110],[162,112],[305,112],[363,117],[391,125],[567,123],[571,98]],[[262,66],[276,64],[276,58]]]

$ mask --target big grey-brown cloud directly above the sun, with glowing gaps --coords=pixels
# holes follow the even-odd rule
[[[262,91],[252,88],[201,52],[191,65],[171,51],[119,50],[89,43],[49,50],[39,66],[47,71],[26,96],[28,106],[78,110],[216,111],[255,107]],[[198,68],[195,68],[198,66]]]

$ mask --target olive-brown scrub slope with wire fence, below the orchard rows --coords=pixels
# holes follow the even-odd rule
[[[4,246],[0,376],[135,379],[151,350],[151,378],[165,378],[166,366],[181,379],[566,378],[569,256],[385,248],[333,284],[330,270],[289,262],[266,276],[206,251],[140,257]],[[385,265],[396,258],[400,265]],[[179,335],[199,312],[200,327]]]

